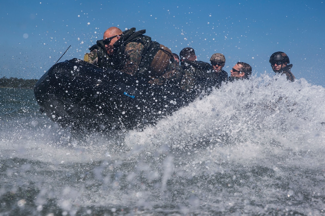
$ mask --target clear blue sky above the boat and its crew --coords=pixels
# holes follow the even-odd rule
[[[104,31],[146,29],[146,35],[179,54],[195,49],[198,60],[226,56],[260,76],[285,52],[296,78],[325,87],[325,3],[311,1],[17,1],[0,3],[0,77],[40,78],[60,61],[83,59]]]

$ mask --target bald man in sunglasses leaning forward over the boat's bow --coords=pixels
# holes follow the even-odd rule
[[[150,84],[181,83],[184,72],[170,49],[135,28],[122,32],[110,27],[85,54],[86,62],[101,68],[112,68],[141,78]]]

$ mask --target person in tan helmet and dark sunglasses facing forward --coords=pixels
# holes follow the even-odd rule
[[[219,88],[222,82],[228,80],[228,73],[222,69],[225,66],[226,58],[221,53],[215,53],[211,56],[210,63],[213,68],[216,86]]]

